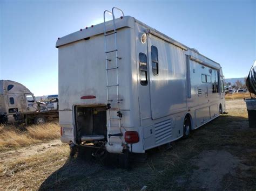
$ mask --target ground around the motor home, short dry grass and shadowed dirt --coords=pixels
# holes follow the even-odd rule
[[[226,101],[226,109],[170,149],[139,156],[130,170],[70,159],[59,140],[2,152],[0,189],[255,189],[256,129],[248,127],[243,100]]]

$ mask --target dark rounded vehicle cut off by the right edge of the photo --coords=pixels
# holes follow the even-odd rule
[[[251,98],[244,99],[248,111],[249,126],[250,128],[256,128],[256,60],[246,79],[246,86],[251,96]]]

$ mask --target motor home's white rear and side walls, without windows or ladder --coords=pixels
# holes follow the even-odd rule
[[[117,31],[118,55],[122,57],[119,61],[122,131],[139,132],[140,142],[132,144],[132,152],[137,153],[182,137],[186,115],[191,117],[192,129],[196,129],[219,116],[220,104],[225,110],[225,99],[221,100],[223,94],[213,94],[212,84],[201,80],[201,74],[211,75],[210,69],[214,68],[220,71],[220,80],[220,66],[190,49],[186,51],[152,34],[147,34],[147,43],[142,44],[140,37],[146,29],[145,25],[134,20],[134,27]],[[111,42],[113,38],[109,38],[107,44],[111,45]],[[158,50],[157,75],[152,74],[151,46]],[[139,53],[147,57],[146,86],[140,83]],[[211,67],[191,60],[190,55]],[[110,59],[114,59],[113,55]],[[61,138],[64,143],[76,143],[75,105],[107,103],[104,60],[103,34],[59,47],[59,123],[64,128]],[[96,98],[81,100],[84,95],[95,95]],[[112,129],[114,132],[118,129]],[[111,142],[120,143],[119,138],[114,139],[111,138]]]

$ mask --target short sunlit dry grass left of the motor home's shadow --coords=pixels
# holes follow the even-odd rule
[[[44,153],[1,162],[0,188],[36,190],[49,175],[65,164],[68,156],[69,146],[62,144],[48,148]]]

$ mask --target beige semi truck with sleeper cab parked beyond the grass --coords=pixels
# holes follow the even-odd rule
[[[58,99],[49,104],[36,101],[31,91],[21,83],[0,80],[0,113],[8,123],[45,123],[58,118]]]

